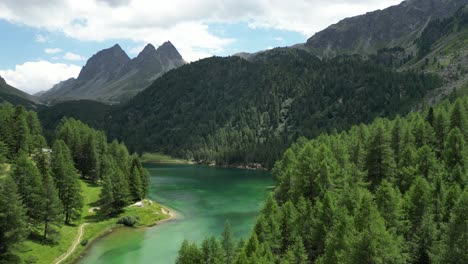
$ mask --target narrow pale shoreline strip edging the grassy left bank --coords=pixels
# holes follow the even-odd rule
[[[157,201],[154,201],[154,202],[157,202]],[[89,251],[91,249],[93,244],[97,243],[100,239],[117,232],[117,230],[119,230],[119,229],[134,229],[135,231],[137,231],[137,230],[141,230],[141,229],[147,229],[147,228],[155,227],[155,226],[158,226],[158,225],[161,225],[161,224],[164,224],[164,223],[167,223],[167,222],[170,222],[170,221],[173,221],[173,220],[177,219],[178,213],[177,213],[176,210],[174,210],[174,209],[172,209],[172,208],[170,208],[168,206],[165,206],[165,205],[163,205],[163,204],[161,204],[159,202],[157,202],[157,203],[161,206],[162,210],[166,210],[168,212],[167,215],[169,215],[169,217],[167,217],[165,219],[161,219],[161,220],[157,221],[154,224],[149,224],[149,225],[144,225],[144,226],[127,227],[127,226],[124,226],[124,225],[116,224],[114,226],[107,227],[107,228],[103,229],[102,232],[100,232],[99,235],[97,235],[95,238],[90,239],[88,244],[82,249],[81,253],[79,253],[76,256],[72,255],[72,257],[68,261],[65,261],[64,263],[73,263],[73,264],[78,263],[78,261],[86,255],[87,251]]]

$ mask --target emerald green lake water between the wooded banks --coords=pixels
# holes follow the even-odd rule
[[[229,220],[247,238],[273,184],[269,173],[195,165],[146,164],[150,198],[177,218],[146,229],[122,228],[96,241],[78,263],[174,263],[184,240],[220,236]]]

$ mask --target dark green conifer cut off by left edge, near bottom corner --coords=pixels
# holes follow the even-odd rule
[[[15,181],[7,176],[0,180],[0,261],[27,236],[26,209]]]

